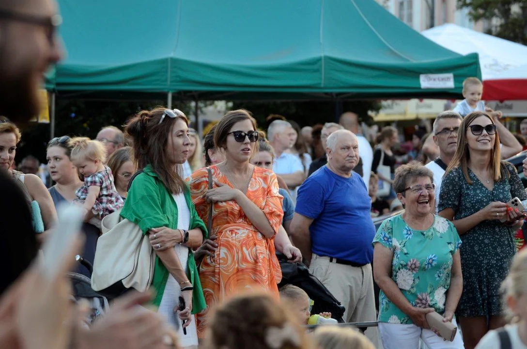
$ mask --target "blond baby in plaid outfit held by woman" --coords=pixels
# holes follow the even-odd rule
[[[101,220],[123,207],[124,201],[115,189],[112,170],[104,164],[106,149],[99,141],[75,137],[70,141],[71,160],[84,176],[84,185],[75,192],[74,202],[82,205],[89,222],[101,227]]]

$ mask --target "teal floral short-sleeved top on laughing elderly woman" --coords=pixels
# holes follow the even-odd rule
[[[381,244],[393,252],[392,280],[414,307],[432,307],[445,312],[453,257],[461,245],[449,220],[434,215],[427,230],[414,230],[401,214],[386,219],[377,230],[373,245]],[[384,292],[379,294],[378,322],[412,324],[412,320]]]

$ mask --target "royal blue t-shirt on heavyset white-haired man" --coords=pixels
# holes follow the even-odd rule
[[[362,177],[344,178],[323,166],[298,189],[295,212],[314,219],[311,251],[357,264],[372,262],[372,200]]]

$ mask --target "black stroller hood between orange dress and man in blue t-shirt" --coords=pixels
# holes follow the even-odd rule
[[[278,288],[285,285],[294,285],[305,290],[310,299],[314,301],[311,315],[322,312],[331,312],[331,317],[339,323],[344,323],[344,307],[329,292],[329,290],[309,272],[309,269],[302,263],[288,263],[284,254],[277,253],[276,257],[282,269],[282,280]]]

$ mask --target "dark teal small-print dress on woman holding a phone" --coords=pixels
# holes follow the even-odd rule
[[[492,191],[470,169],[472,185],[466,182],[460,167],[446,173],[441,182],[438,210],[452,208],[454,219],[462,219],[493,201],[508,202],[514,197],[527,199],[514,166],[505,162],[502,166],[503,172],[508,170],[510,177],[502,176],[502,180],[494,183]],[[485,220],[461,235],[461,240],[463,293],[456,315],[502,315],[500,287],[516,254],[514,231],[499,220]]]

